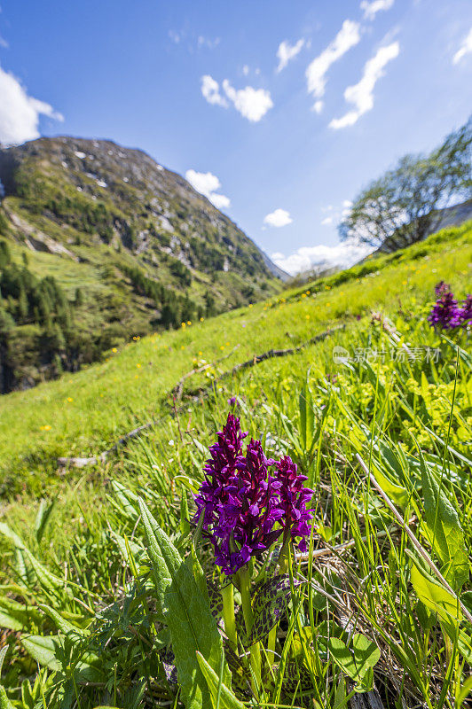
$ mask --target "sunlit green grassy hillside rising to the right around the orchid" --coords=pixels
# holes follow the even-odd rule
[[[196,673],[193,687],[203,692],[203,704],[195,706],[217,705],[205,695],[211,674],[207,669],[207,684],[189,640],[203,642],[203,626],[213,622],[204,620],[208,599],[186,619],[159,610],[157,542],[138,516],[136,495],[180,550],[177,557],[187,556],[190,492],[231,409],[268,456],[292,457],[314,495],[309,552],[290,557],[279,628],[261,640],[262,686],[253,675],[252,695],[248,689],[242,627],[240,659],[227,649],[232,679],[218,664],[216,639],[208,650],[216,688],[218,676],[232,684],[232,698],[220,687],[220,707],[242,701],[339,709],[356,691],[373,690],[386,709],[465,707],[472,667],[472,362],[467,332],[434,331],[427,316],[438,281],[450,283],[459,299],[470,292],[471,262],[468,222],[250,308],[139,339],[106,362],[4,396],[0,625],[13,632],[5,635],[12,661],[0,682],[8,696],[51,709],[183,701],[188,707],[178,626],[186,634],[186,666]],[[373,311],[389,316],[387,330]],[[334,331],[336,325],[344,329]],[[328,328],[332,334],[295,354],[218,379],[256,354],[298,347]],[[334,347],[344,347],[349,361],[334,361]],[[170,392],[205,362],[214,363],[185,378],[174,409]],[[57,456],[97,454],[152,419],[153,428],[104,464],[58,470]],[[55,501],[51,514],[47,503],[39,506],[40,496]],[[219,584],[212,549],[195,543],[194,557]],[[152,580],[147,571],[154,563]],[[182,563],[178,572],[188,604],[206,594],[195,561],[191,567]],[[255,582],[256,574],[271,580],[273,572],[256,564],[249,579],[251,573]],[[169,634],[181,694],[169,682],[173,660],[166,656],[162,665]],[[49,639],[37,639],[43,635]],[[46,668],[35,686],[23,684],[28,704],[19,688],[26,678],[34,681],[30,658]],[[251,666],[257,670],[257,662]]]

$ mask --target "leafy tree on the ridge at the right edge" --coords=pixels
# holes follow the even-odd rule
[[[429,155],[405,155],[361,191],[339,225],[342,239],[395,251],[427,237],[452,199],[472,196],[472,118]]]

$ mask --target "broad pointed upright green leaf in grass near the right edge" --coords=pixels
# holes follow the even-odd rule
[[[440,489],[420,452],[421,485],[429,541],[445,565],[444,577],[458,591],[468,580],[468,553],[457,510]]]

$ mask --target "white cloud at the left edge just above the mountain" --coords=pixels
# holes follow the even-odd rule
[[[64,121],[64,117],[51,105],[28,96],[20,81],[1,66],[0,97],[0,143],[19,144],[39,137],[39,119],[42,115],[54,121]]]

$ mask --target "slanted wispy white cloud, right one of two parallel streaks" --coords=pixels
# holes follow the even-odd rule
[[[360,116],[374,107],[374,86],[385,74],[385,66],[392,59],[396,58],[400,52],[400,45],[393,42],[386,47],[381,47],[379,51],[370,58],[364,66],[364,74],[360,82],[353,86],[348,86],[344,91],[344,98],[350,104],[354,104],[352,111],[345,113],[342,118],[334,118],[329,127],[333,129],[347,128],[353,126]]]

